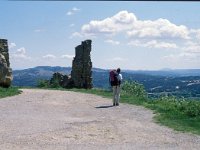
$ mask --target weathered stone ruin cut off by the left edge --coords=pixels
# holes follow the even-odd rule
[[[9,87],[12,81],[12,69],[10,68],[8,42],[0,39],[0,86]]]

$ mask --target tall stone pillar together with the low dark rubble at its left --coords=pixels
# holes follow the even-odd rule
[[[82,41],[81,45],[75,47],[71,75],[54,73],[50,85],[57,82],[64,88],[92,88],[91,43],[91,40],[85,40]]]

